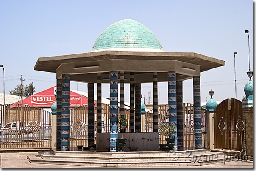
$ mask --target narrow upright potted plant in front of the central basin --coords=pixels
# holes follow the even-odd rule
[[[124,152],[123,147],[126,145],[126,138],[123,138],[123,130],[128,127],[128,119],[125,117],[125,115],[120,115],[120,117],[117,120],[117,126],[120,128],[120,131],[122,133],[122,138],[117,138],[117,147],[119,147],[118,152]]]

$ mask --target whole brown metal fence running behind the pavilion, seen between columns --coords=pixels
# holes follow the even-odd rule
[[[6,105],[0,106],[1,128],[0,149],[35,149],[51,148],[52,146],[52,115],[50,112],[32,106],[15,107]],[[5,111],[5,112],[4,112]],[[5,114],[4,114],[5,113]],[[194,149],[194,119],[193,105],[183,103],[184,120],[184,149]],[[120,108],[118,110],[120,116]],[[125,109],[125,117],[130,125],[130,110]],[[101,114],[101,132],[110,132],[110,112],[109,105],[102,104]],[[206,111],[202,108],[202,139],[203,148],[206,147]],[[168,120],[168,105],[159,105],[158,122]],[[95,144],[97,137],[97,107],[94,107],[95,121]],[[88,145],[87,138],[88,112],[87,105],[70,109],[70,147],[76,147],[79,144]],[[205,125],[205,126],[204,126]],[[142,132],[153,132],[153,109],[145,113],[145,129]],[[125,132],[130,132],[130,127],[125,128]],[[166,144],[165,138],[160,135],[160,144]],[[205,145],[204,145],[205,144]]]

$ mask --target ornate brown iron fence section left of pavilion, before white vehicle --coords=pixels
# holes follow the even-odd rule
[[[0,106],[0,149],[51,148],[52,115],[40,108],[17,104]]]

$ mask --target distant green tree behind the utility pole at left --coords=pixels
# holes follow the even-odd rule
[[[29,85],[26,85],[24,86],[23,85],[23,96],[24,97],[29,97],[31,95],[33,95],[33,93],[35,92],[35,87],[34,87],[34,84],[33,82],[31,82]],[[10,91],[10,94],[11,95],[18,95],[18,96],[21,96],[21,85],[17,85],[14,90],[11,90]]]

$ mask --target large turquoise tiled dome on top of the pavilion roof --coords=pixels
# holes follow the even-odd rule
[[[96,39],[91,51],[109,48],[164,50],[151,30],[132,19],[124,19],[107,27]]]

